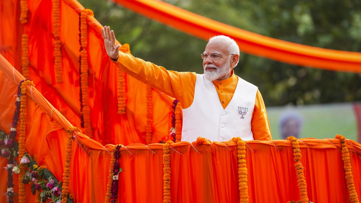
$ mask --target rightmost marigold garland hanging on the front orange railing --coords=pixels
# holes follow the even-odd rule
[[[343,168],[345,170],[345,177],[346,177],[346,183],[348,188],[348,193],[350,196],[351,202],[359,202],[358,196],[356,193],[355,185],[353,184],[353,175],[351,170],[351,163],[350,163],[350,153],[347,148],[347,144],[345,141],[345,137],[342,135],[336,135],[335,139],[339,139],[341,141],[341,147],[342,147],[342,160],[343,160]]]

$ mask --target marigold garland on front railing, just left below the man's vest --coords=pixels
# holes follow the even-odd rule
[[[170,151],[169,145],[173,141],[167,141],[163,145],[163,203],[170,203]]]

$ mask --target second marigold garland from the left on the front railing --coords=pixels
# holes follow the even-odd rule
[[[66,142],[66,150],[65,150],[65,166],[64,166],[64,173],[63,173],[63,184],[61,190],[61,202],[66,203],[68,202],[68,194],[69,194],[69,180],[70,180],[70,164],[71,164],[71,154],[73,152],[73,142],[71,138],[73,137],[73,133],[81,132],[81,130],[77,127],[69,127],[66,130],[66,134],[68,135],[68,141]]]

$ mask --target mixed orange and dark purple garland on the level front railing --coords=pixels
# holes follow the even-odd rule
[[[122,147],[121,144],[113,147],[113,153],[110,158],[108,184],[106,185],[105,203],[114,203],[118,197],[118,179],[119,173],[122,172],[118,159],[120,157],[119,149]]]

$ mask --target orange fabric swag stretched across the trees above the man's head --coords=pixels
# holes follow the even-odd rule
[[[230,36],[245,53],[326,70],[361,72],[361,53],[358,52],[323,49],[270,38],[211,20],[164,1],[113,1],[145,17],[204,40],[220,34]]]

